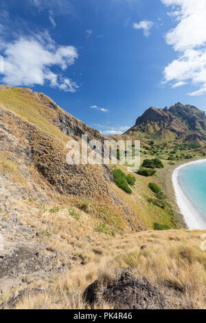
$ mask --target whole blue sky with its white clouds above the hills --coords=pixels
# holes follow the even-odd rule
[[[205,0],[1,0],[0,82],[123,133],[150,106],[206,110],[205,30]]]

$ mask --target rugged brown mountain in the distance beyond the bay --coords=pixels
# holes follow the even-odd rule
[[[174,104],[170,109],[150,107],[124,135],[159,142],[205,143],[205,111],[181,103]]]

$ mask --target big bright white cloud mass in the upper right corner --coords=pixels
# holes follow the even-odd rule
[[[176,27],[170,30],[165,40],[172,45],[178,57],[164,70],[165,82],[175,82],[172,87],[192,81],[198,89],[190,96],[206,93],[206,1],[205,0],[161,0],[172,5]]]

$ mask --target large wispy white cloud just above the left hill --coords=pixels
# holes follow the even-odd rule
[[[76,47],[60,46],[49,34],[19,37],[15,41],[1,40],[4,71],[1,82],[9,85],[49,85],[64,91],[75,92],[76,82],[62,76],[78,58]],[[60,72],[52,71],[58,67]]]

